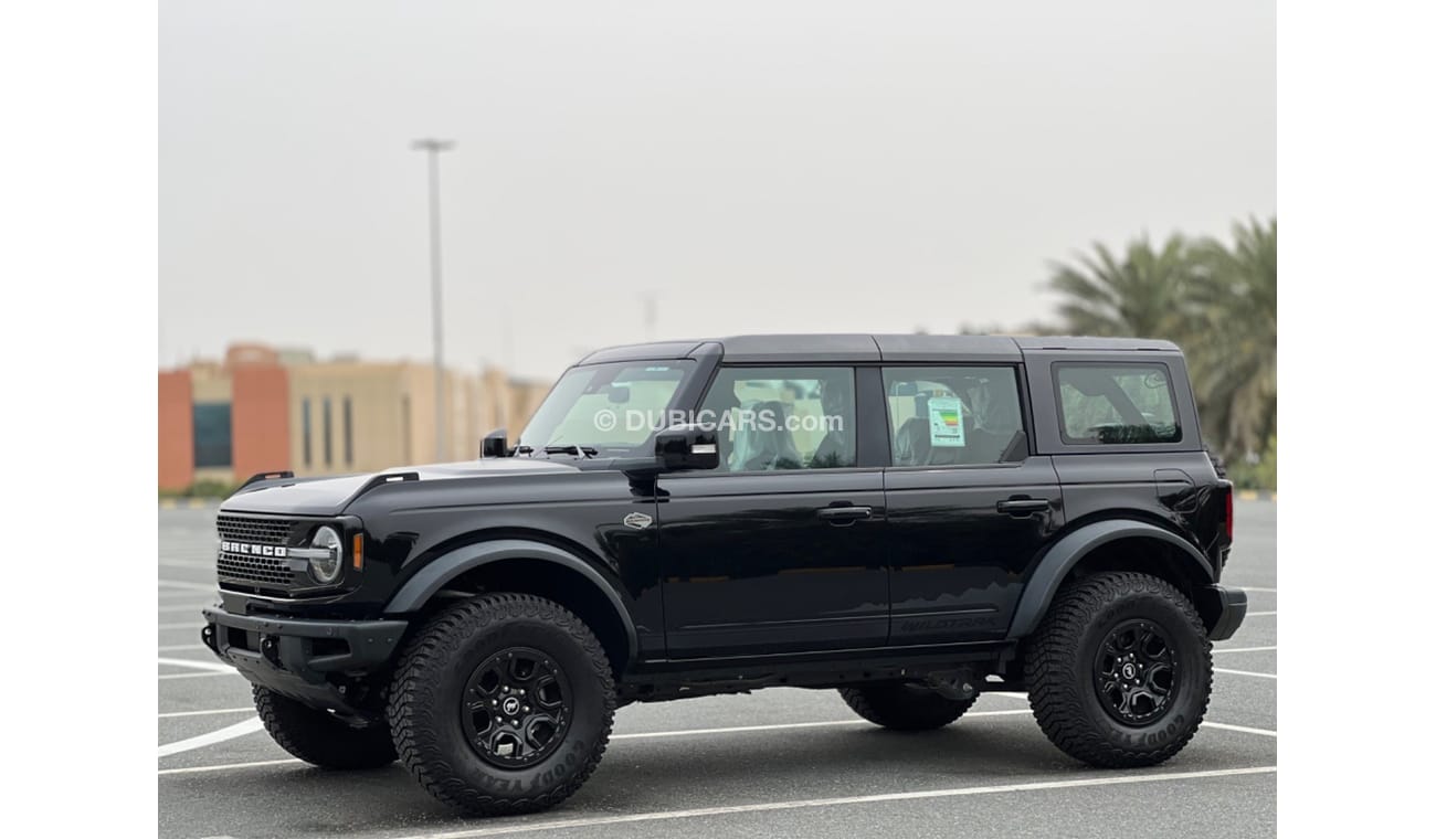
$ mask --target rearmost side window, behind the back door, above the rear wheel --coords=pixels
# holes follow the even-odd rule
[[[1055,364],[1067,443],[1175,443],[1172,377],[1166,364]]]

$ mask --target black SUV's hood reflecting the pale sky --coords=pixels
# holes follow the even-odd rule
[[[534,460],[528,458],[493,458],[467,460],[462,463],[431,463],[426,466],[402,466],[369,472],[363,475],[340,475],[337,478],[276,478],[261,480],[236,492],[220,505],[220,512],[253,512],[284,515],[339,515],[358,498],[372,480],[385,475],[414,475],[419,480],[454,480],[460,478],[503,478],[514,475],[540,475],[579,472],[572,462]],[[372,488],[370,488],[372,489]]]

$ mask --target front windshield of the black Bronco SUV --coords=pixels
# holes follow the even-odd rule
[[[582,446],[597,458],[638,455],[666,423],[692,361],[620,361],[570,367],[516,442],[520,450]],[[651,452],[649,452],[651,453]]]

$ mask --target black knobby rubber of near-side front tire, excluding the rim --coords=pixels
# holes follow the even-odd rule
[[[563,668],[573,710],[553,753],[505,769],[470,744],[460,708],[475,668],[516,645]],[[405,645],[388,720],[399,760],[434,797],[470,815],[507,815],[551,807],[583,786],[607,747],[613,710],[609,660],[583,621],[540,597],[484,594],[439,612]]]

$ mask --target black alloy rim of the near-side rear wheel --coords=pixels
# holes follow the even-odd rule
[[[1103,710],[1124,726],[1147,726],[1172,707],[1179,684],[1172,638],[1153,621],[1123,621],[1097,647],[1093,681]]]

